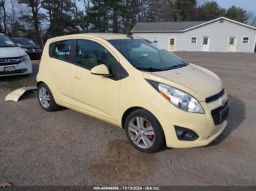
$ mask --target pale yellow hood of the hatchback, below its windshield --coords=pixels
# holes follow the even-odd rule
[[[144,72],[144,77],[183,90],[195,96],[198,101],[205,101],[223,88],[216,74],[192,63],[180,69]]]

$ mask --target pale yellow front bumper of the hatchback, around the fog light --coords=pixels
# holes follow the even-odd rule
[[[223,120],[220,124],[215,125],[211,114],[211,111],[221,107],[219,101],[215,101],[210,104],[201,102],[200,104],[203,106],[203,109],[206,112],[205,114],[184,112],[181,109],[177,109],[172,104],[167,104],[164,108],[157,112],[156,117],[164,130],[167,147],[202,147],[210,144],[211,141],[214,141],[214,139],[216,139],[217,136],[222,133],[227,126],[227,120]],[[197,133],[198,139],[195,141],[179,140],[174,126],[193,130],[195,133]]]

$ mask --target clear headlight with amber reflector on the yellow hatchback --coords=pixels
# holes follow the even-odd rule
[[[159,93],[167,99],[167,101],[170,101],[171,104],[175,105],[179,109],[186,112],[204,113],[203,107],[194,97],[192,97],[192,95],[160,83],[158,85],[158,90]]]

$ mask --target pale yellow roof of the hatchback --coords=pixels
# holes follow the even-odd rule
[[[53,38],[53,40],[65,39],[65,38],[78,38],[78,37],[99,37],[106,40],[114,40],[114,39],[131,39],[127,34],[114,34],[114,33],[87,33],[87,34],[72,34],[67,36],[58,36]],[[143,39],[139,36],[132,36],[133,39]]]

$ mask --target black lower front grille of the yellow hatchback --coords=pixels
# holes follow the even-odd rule
[[[225,103],[224,106],[220,106],[217,109],[211,111],[212,119],[214,120],[215,125],[222,124],[229,114],[230,107],[228,106],[228,101]]]

